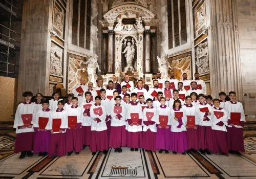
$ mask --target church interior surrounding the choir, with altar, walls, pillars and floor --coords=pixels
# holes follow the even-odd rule
[[[255,15],[255,0],[0,0],[0,178],[256,178]],[[158,72],[198,73],[213,98],[236,92],[245,152],[13,152],[23,92],[67,100],[81,79],[153,87]]]

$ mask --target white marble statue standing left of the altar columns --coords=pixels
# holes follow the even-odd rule
[[[98,78],[96,74],[97,68],[98,68],[98,71],[101,72],[98,64],[98,56],[94,55],[92,58],[89,58],[85,64],[88,64],[87,65],[88,82],[91,81],[93,83],[96,83],[96,80]]]

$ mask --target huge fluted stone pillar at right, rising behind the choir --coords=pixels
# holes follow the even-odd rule
[[[242,99],[242,73],[237,33],[237,8],[233,0],[206,0],[206,26],[211,95],[236,91]]]

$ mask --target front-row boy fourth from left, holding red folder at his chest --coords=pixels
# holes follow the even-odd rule
[[[75,151],[76,154],[82,150],[82,109],[78,106],[78,99],[72,98],[72,106],[67,108],[69,127],[66,132],[66,151],[68,156]]]

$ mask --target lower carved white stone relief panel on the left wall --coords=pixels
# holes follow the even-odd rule
[[[51,43],[50,73],[62,76],[63,49]]]

